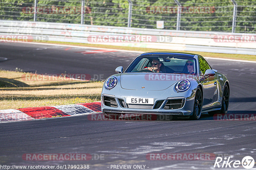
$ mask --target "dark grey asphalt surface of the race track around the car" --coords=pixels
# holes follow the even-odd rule
[[[129,52],[76,53],[86,50],[25,43],[0,43],[0,68],[39,74],[103,75],[124,66],[138,55]],[[228,54],[227,54],[228,55]],[[256,63],[207,60],[230,82],[229,114],[256,114]],[[15,109],[15,108],[13,108]],[[100,115],[100,113],[98,114]],[[148,160],[149,153],[210,153],[256,160],[256,121],[213,120],[203,114],[197,121],[92,121],[90,116],[60,117],[0,124],[1,165],[145,165],[145,169],[222,169],[212,160]],[[23,160],[26,153],[89,153],[86,161]],[[103,156],[98,159],[101,154]],[[222,164],[220,164],[222,165]],[[232,164],[231,164],[232,165]],[[143,167],[143,166],[142,166]],[[132,168],[133,169],[133,168]],[[226,168],[226,169],[234,169]],[[241,165],[236,169],[244,169]],[[254,167],[255,169],[255,167]]]

